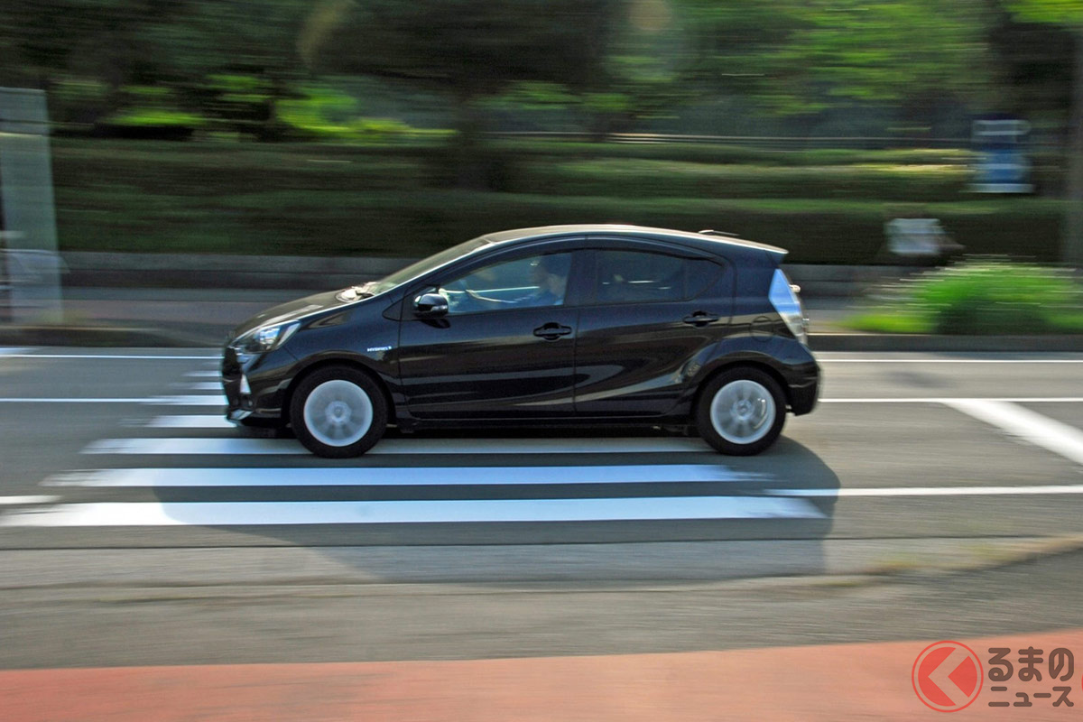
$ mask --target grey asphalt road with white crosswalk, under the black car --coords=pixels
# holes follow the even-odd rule
[[[328,461],[221,424],[213,352],[2,350],[0,667],[1079,626],[1083,355],[820,358],[756,458],[509,431]]]

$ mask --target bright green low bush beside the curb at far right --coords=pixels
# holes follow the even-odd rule
[[[1065,268],[973,259],[908,279],[898,298],[850,321],[896,333],[1083,331],[1083,287]]]

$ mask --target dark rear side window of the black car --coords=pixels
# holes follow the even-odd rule
[[[707,289],[722,268],[710,261],[644,251],[598,251],[595,301],[681,301]]]

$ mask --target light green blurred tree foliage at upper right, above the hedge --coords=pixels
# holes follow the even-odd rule
[[[680,2],[692,77],[778,114],[889,105],[921,120],[986,91],[981,0]]]

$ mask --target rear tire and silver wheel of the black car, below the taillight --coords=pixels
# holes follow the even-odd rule
[[[786,421],[782,388],[768,373],[735,368],[704,386],[695,423],[705,442],[722,454],[753,456],[775,442]]]

